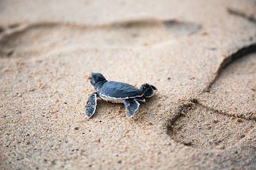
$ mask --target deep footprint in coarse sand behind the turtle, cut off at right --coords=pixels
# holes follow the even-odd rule
[[[252,48],[248,50],[255,52]],[[196,148],[224,149],[256,127],[256,53],[236,57],[237,53],[234,60],[230,57],[232,61],[221,69],[209,92],[179,107],[168,125],[172,139]]]

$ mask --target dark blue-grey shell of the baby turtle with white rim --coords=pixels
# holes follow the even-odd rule
[[[127,83],[115,81],[107,81],[98,90],[101,96],[115,99],[129,99],[143,95],[140,89]]]

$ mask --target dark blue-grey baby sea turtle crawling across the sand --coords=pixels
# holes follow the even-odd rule
[[[112,103],[124,103],[128,117],[132,118],[140,106],[138,101],[145,102],[145,98],[152,97],[154,90],[156,90],[156,87],[147,83],[141,85],[140,89],[137,89],[127,83],[107,81],[100,73],[92,73],[90,81],[97,92],[94,92],[88,98],[85,112],[88,118],[92,117],[95,113],[97,97]]]

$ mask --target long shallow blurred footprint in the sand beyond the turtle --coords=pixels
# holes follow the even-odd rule
[[[97,26],[13,24],[11,28],[15,31],[0,41],[1,53],[10,51],[10,48],[35,51],[65,46],[148,46],[193,34],[200,30],[200,25],[176,20],[134,20]]]

